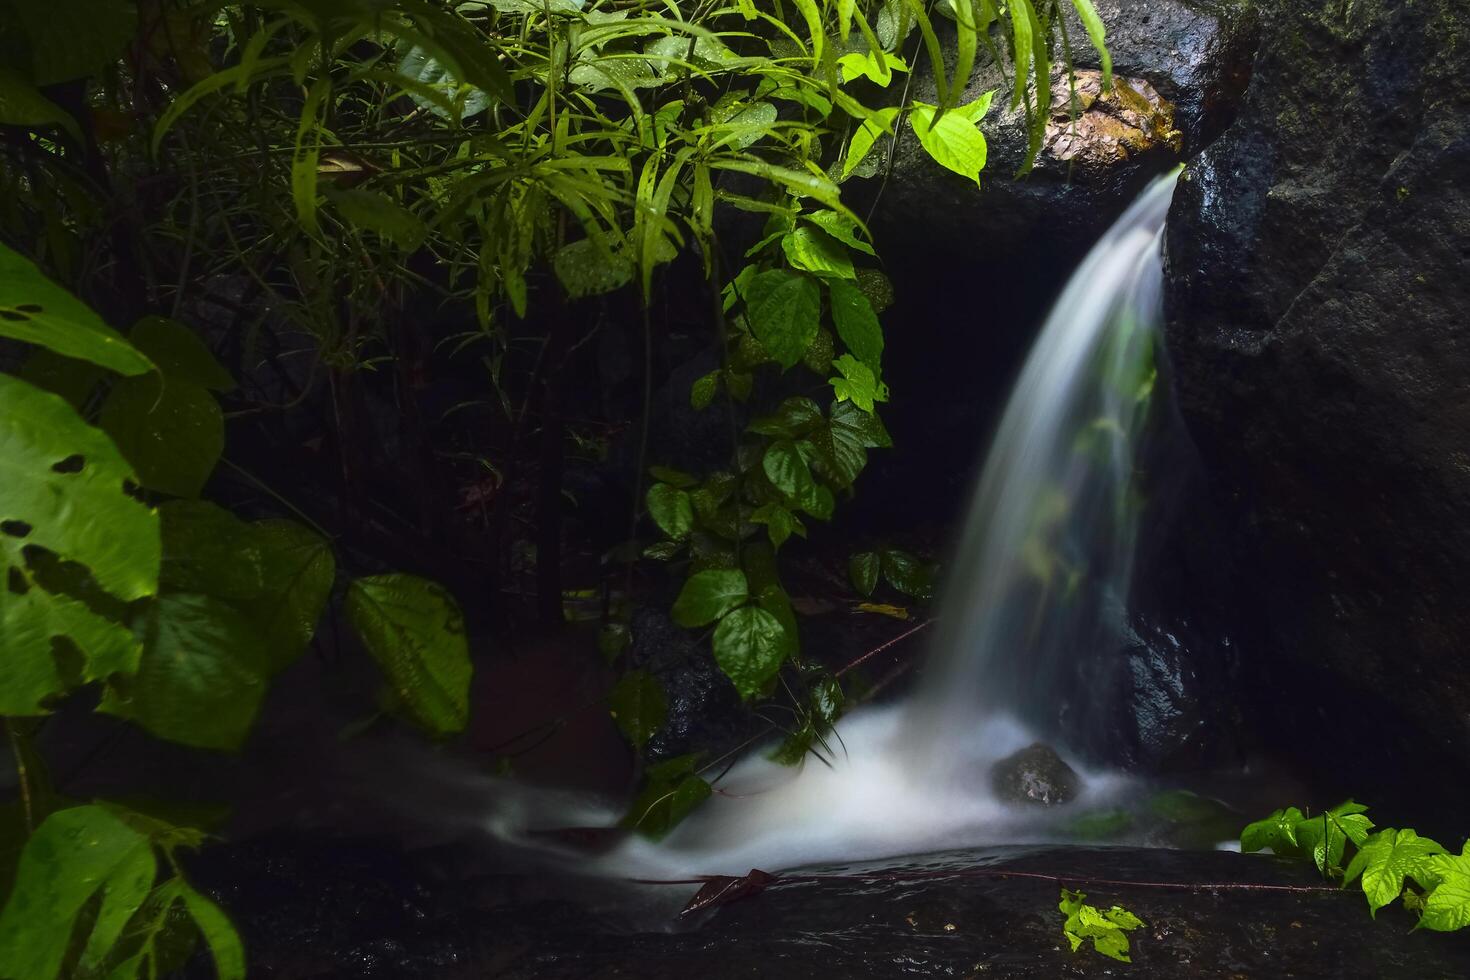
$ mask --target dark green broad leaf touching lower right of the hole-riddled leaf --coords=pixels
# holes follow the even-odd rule
[[[269,676],[269,651],[244,614],[207,595],[163,595],[144,623],[138,673],[109,685],[97,710],[171,742],[237,749]]]

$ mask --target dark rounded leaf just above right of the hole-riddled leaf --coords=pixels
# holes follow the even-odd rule
[[[148,489],[198,497],[225,451],[225,416],[207,389],[157,376],[107,392],[100,423]]]

